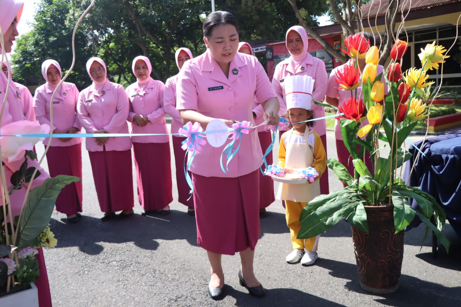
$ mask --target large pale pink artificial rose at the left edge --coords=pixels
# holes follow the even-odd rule
[[[47,134],[50,133],[50,126],[40,125],[38,121],[19,121],[12,122],[1,127],[1,134]],[[34,145],[43,138],[39,137],[0,137],[1,152],[8,162],[21,160],[25,151],[31,151]]]

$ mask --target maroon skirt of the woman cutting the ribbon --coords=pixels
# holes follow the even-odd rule
[[[236,178],[192,173],[197,243],[216,254],[254,250],[260,235],[259,169]]]

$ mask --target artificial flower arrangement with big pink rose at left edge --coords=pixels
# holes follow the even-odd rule
[[[33,147],[41,138],[12,135],[47,133],[50,133],[50,127],[40,125],[39,122],[12,122],[1,127],[1,160],[24,161],[19,170],[11,175],[9,183],[1,180],[0,296],[26,290],[31,282],[37,280],[40,271],[35,255],[38,249],[53,248],[57,244],[48,226],[56,198],[65,185],[80,180],[65,175],[47,178],[30,193],[28,189],[20,214],[13,216],[9,196],[25,188],[24,184],[31,185],[41,175],[38,166],[29,167],[29,161],[37,159]],[[6,179],[3,167],[0,168],[0,174],[2,179]]]

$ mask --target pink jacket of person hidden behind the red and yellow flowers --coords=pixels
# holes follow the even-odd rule
[[[344,65],[352,65],[352,59],[349,59],[349,61],[346,64],[340,65],[333,70],[331,70],[330,77],[328,78],[328,86],[326,87],[326,96],[331,97],[331,98],[338,98],[338,106],[342,106],[344,100],[347,98],[351,97],[350,91],[344,91],[342,88],[338,89],[337,87],[340,87],[338,83],[335,81],[335,77],[338,71],[341,73],[344,72]],[[384,67],[382,65],[378,65],[378,68],[376,70],[376,75],[379,75],[384,71]],[[387,95],[388,92],[388,86],[385,83],[384,79],[384,74],[381,77],[381,82],[384,82],[384,95]],[[355,95],[355,91],[354,95]],[[362,94],[362,84],[360,84],[359,87],[357,87],[357,96],[363,99],[363,94]],[[338,125],[339,121],[335,122],[335,137],[336,139],[343,139],[343,136],[341,134],[341,126]],[[364,125],[368,124],[368,120],[363,123]]]

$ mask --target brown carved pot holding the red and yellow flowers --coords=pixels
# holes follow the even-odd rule
[[[365,206],[369,233],[352,227],[360,286],[369,292],[395,292],[403,260],[403,231],[395,233],[394,207]]]

